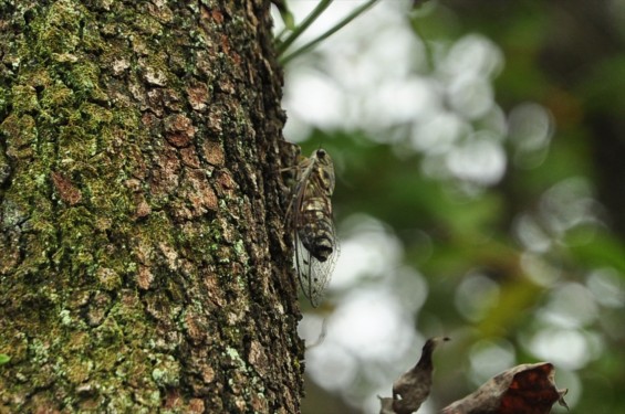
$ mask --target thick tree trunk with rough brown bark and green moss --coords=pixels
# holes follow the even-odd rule
[[[0,412],[299,412],[269,7],[0,1]]]

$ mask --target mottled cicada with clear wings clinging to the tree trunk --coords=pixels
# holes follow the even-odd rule
[[[332,219],[334,164],[324,149],[296,166],[296,184],[289,208],[295,240],[295,272],[304,295],[319,306],[330,282],[338,243]]]

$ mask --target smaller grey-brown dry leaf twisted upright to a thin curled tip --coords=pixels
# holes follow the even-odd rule
[[[419,362],[393,383],[394,413],[409,414],[421,406],[431,389],[431,373],[434,371],[431,354],[440,342],[448,340],[449,338],[446,337],[428,339],[424,344]]]

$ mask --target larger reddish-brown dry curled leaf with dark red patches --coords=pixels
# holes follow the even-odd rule
[[[567,390],[555,386],[549,362],[525,363],[493,376],[472,394],[442,408],[442,414],[549,414]]]

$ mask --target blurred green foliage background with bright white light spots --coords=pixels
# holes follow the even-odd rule
[[[332,155],[342,250],[302,300],[325,332],[304,413],[377,413],[439,335],[419,413],[535,361],[572,413],[625,407],[624,43],[625,0],[383,0],[288,64],[285,137]]]

